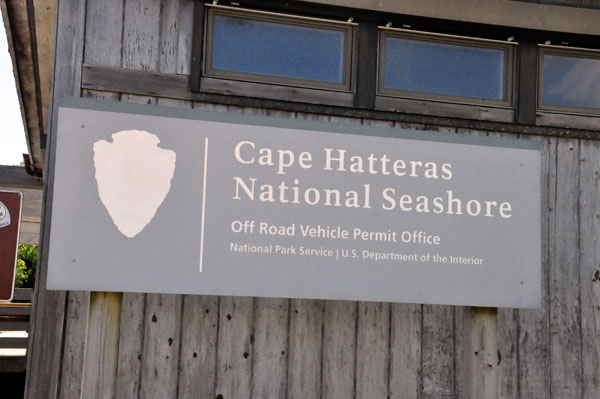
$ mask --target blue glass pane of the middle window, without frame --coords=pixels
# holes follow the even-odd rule
[[[504,100],[505,51],[385,38],[384,87]]]

